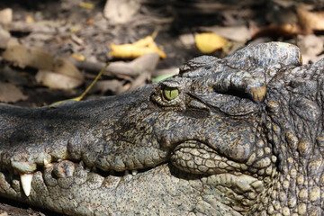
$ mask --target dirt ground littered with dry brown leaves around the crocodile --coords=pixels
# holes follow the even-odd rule
[[[281,0],[2,0],[0,102],[36,107],[76,97],[108,61],[85,99],[130,91],[176,74],[185,61],[205,54],[195,40],[202,32],[225,39],[209,53],[219,58],[247,44],[276,40],[298,45],[303,63],[312,63],[323,57],[323,17],[320,4]],[[112,56],[111,43],[148,36],[166,58]],[[16,54],[24,51],[27,62]],[[58,71],[56,65],[64,67]],[[4,215],[57,214],[2,198]]]

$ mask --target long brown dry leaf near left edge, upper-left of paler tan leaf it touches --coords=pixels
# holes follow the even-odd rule
[[[3,58],[12,61],[18,67],[34,67],[43,70],[52,70],[53,56],[48,52],[36,48],[27,48],[23,45],[8,46]]]

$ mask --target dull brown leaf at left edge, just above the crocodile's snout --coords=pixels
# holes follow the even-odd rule
[[[16,103],[17,101],[27,100],[28,96],[23,95],[22,91],[15,85],[0,82],[0,101],[4,103]]]

